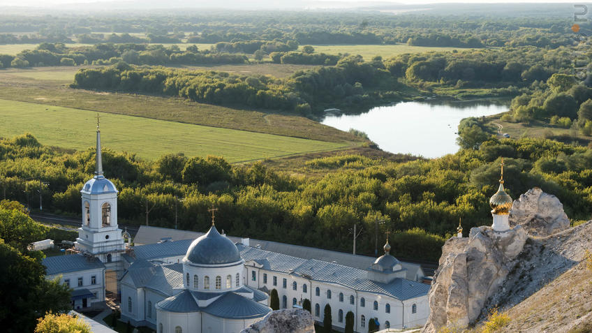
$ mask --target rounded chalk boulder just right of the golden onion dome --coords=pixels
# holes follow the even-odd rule
[[[514,201],[510,227],[515,225],[522,225],[528,235],[547,237],[569,228],[570,220],[555,195],[535,187]]]

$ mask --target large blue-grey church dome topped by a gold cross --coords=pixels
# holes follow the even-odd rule
[[[241,257],[235,243],[212,225],[207,234],[191,243],[185,259],[198,265],[218,265],[240,261]]]

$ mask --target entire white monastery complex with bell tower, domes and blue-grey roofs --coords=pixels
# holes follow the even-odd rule
[[[232,242],[216,230],[212,217],[211,228],[200,237],[186,232],[191,239],[128,246],[129,235],[117,225],[117,188],[103,176],[98,126],[96,150],[95,175],[81,191],[77,254],[43,260],[48,279],[61,276],[73,288],[75,309],[114,293],[121,295],[121,320],[134,326],[158,333],[238,333],[271,311],[268,295],[275,289],[283,309],[302,307],[309,299],[319,323],[329,304],[336,330],[344,329],[349,311],[355,332],[367,332],[371,319],[381,329],[426,322],[429,285],[421,282],[422,269],[391,256],[388,241],[383,256],[356,267],[330,260],[332,253],[346,258],[344,253],[299,246],[329,256],[301,250],[288,255],[250,246],[249,239]]]

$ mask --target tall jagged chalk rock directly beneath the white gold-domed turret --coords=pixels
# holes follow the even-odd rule
[[[518,225],[505,232],[482,226],[472,228],[468,238],[448,239],[429,290],[430,314],[422,332],[475,322],[514,267],[527,238]]]

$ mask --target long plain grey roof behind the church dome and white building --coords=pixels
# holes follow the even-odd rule
[[[140,229],[138,230],[138,233],[135,235],[134,243],[154,244],[160,242],[163,238],[170,238],[173,242],[179,242],[185,239],[195,239],[201,237],[202,235],[204,235],[203,232],[140,225]],[[242,242],[241,237],[226,237],[228,237],[230,240],[232,240],[232,242],[235,243]],[[318,259],[327,262],[336,262],[341,265],[346,265],[349,267],[355,267],[359,269],[367,269],[373,264],[374,260],[376,260],[376,258],[369,256],[353,255],[352,253],[317,249],[309,246],[270,242],[260,239],[250,239],[249,244],[258,249],[272,251],[276,253],[283,253],[287,254],[288,256],[304,259]],[[182,256],[183,254],[184,253],[177,254],[177,256]],[[415,264],[413,262],[401,261],[400,263],[401,265],[403,265],[404,268],[407,269],[407,279],[415,279],[415,274],[417,274],[417,271],[419,269],[422,269],[422,272],[424,272],[425,274],[434,274],[434,269],[426,269],[425,267],[422,267],[419,264]]]

